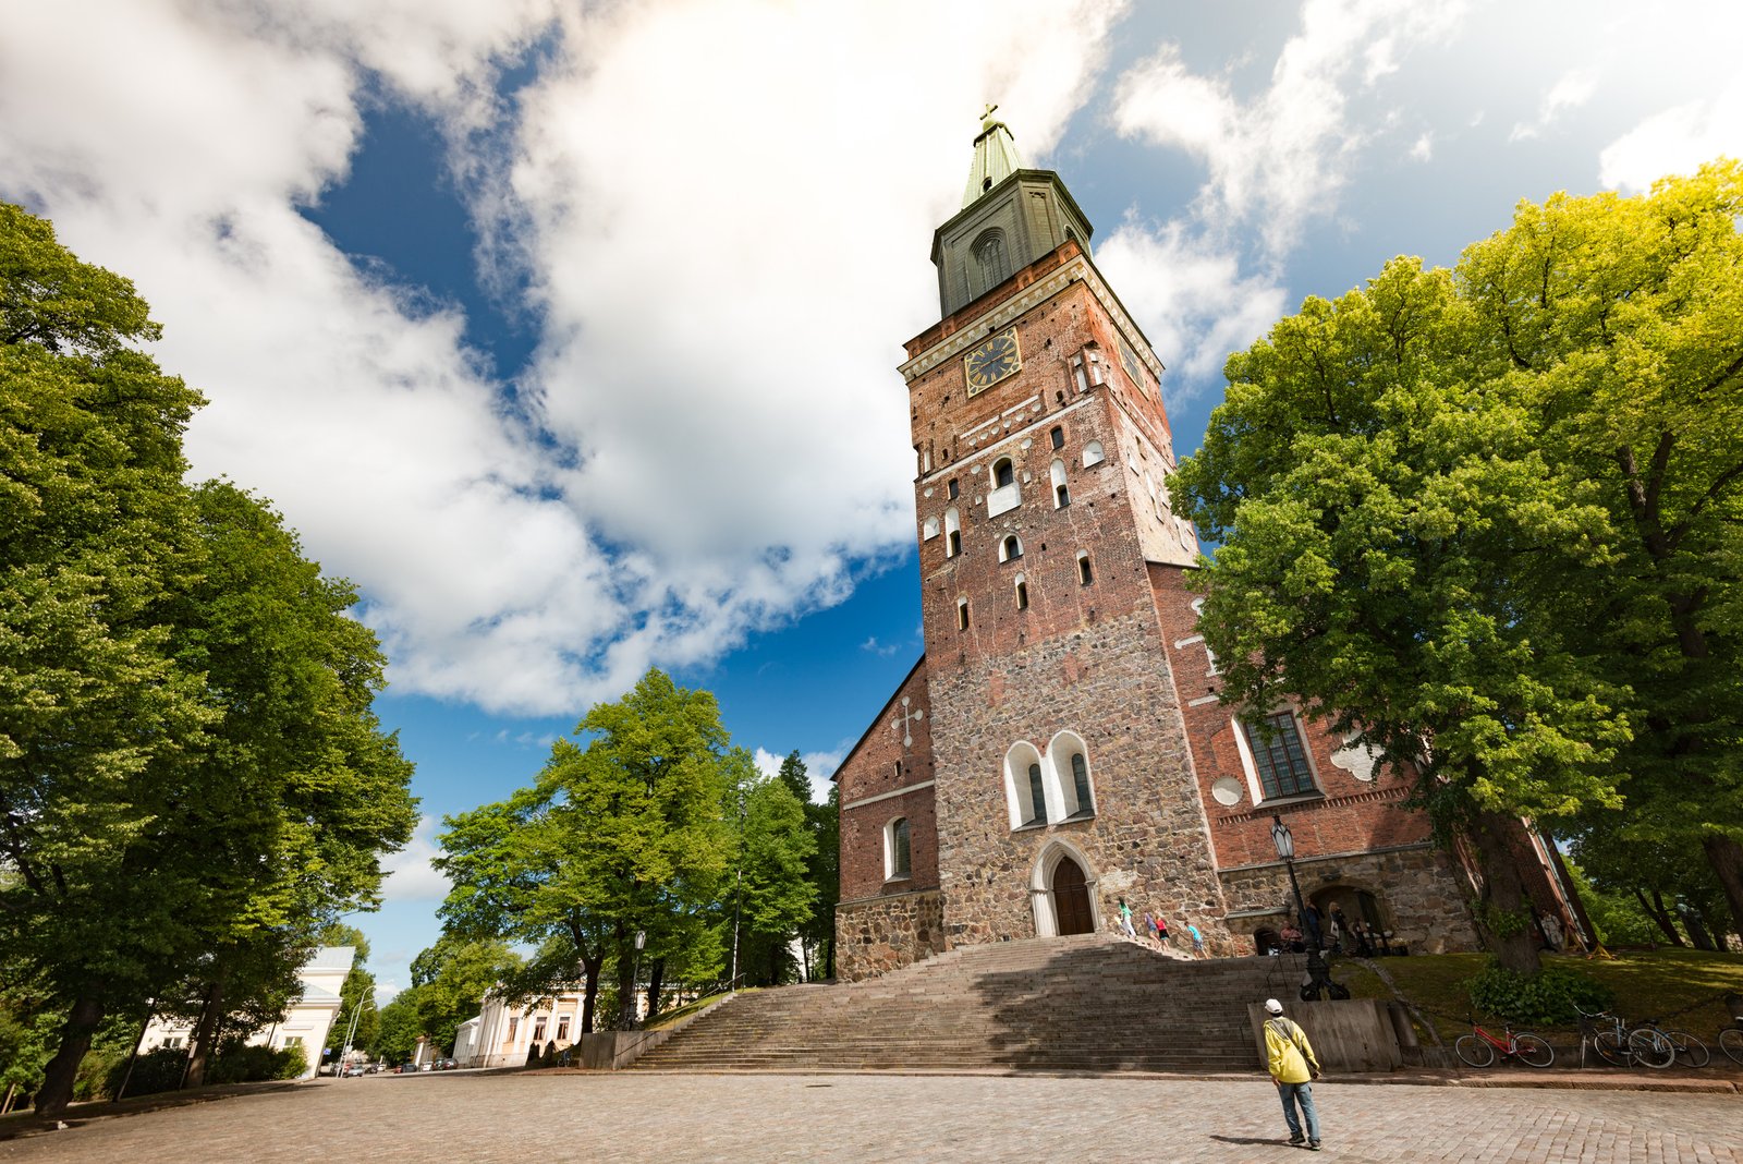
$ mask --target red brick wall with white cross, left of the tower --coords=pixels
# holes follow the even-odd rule
[[[903,699],[908,700],[903,732]],[[903,737],[913,744],[903,744]],[[901,765],[901,775],[896,765]],[[878,711],[835,772],[842,803],[842,901],[938,889],[938,822],[933,807],[933,709],[926,660]],[[919,786],[919,788],[915,788]],[[912,789],[896,796],[898,789]],[[870,803],[865,803],[870,800]],[[884,826],[908,817],[906,880],[884,878]]]

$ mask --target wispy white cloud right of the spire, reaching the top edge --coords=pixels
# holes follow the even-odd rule
[[[1122,136],[1201,157],[1208,179],[1199,218],[1257,223],[1276,258],[1311,216],[1337,207],[1349,159],[1370,132],[1354,117],[1353,96],[1462,14],[1462,3],[1307,0],[1271,85],[1251,99],[1241,99],[1229,77],[1190,71],[1180,47],[1164,44],[1121,77],[1114,124]]]

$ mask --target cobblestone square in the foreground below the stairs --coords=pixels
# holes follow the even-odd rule
[[[1321,1082],[458,1072],[324,1080],[0,1143],[0,1162],[1738,1161],[1743,1096]]]

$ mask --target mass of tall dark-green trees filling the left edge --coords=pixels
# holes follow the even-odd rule
[[[0,206],[0,962],[64,1016],[45,1113],[148,997],[204,1000],[197,1068],[225,1016],[282,1011],[415,819],[354,592],[260,500],[183,484],[200,401],[155,338],[131,284]]]

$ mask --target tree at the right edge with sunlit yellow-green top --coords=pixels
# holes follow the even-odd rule
[[[1579,650],[1626,681],[1624,836],[1698,849],[1743,934],[1743,169],[1556,195],[1459,263],[1534,441],[1607,509]]]

